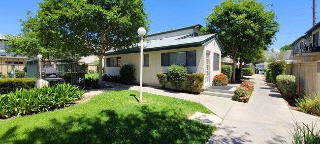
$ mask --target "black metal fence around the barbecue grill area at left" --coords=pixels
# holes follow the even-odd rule
[[[41,63],[41,66],[39,65]],[[37,87],[48,85],[40,71],[53,67],[59,77],[76,86],[85,86],[85,63],[79,61],[39,61],[37,58],[0,57],[0,79],[36,78]]]

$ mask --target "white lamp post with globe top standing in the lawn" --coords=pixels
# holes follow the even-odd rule
[[[140,97],[139,97],[139,103],[142,102],[142,57],[143,57],[143,36],[146,34],[146,29],[140,27],[138,29],[138,34],[141,37],[140,43],[141,43],[141,48],[140,48]]]

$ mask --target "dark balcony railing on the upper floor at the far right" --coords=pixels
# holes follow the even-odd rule
[[[297,43],[291,47],[292,54],[320,52],[320,39],[317,40],[305,40]]]

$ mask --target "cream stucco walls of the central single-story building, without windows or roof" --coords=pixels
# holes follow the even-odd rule
[[[157,73],[167,73],[167,66],[161,66],[161,53],[171,53],[171,52],[184,52],[184,51],[196,51],[196,66],[187,66],[188,73],[204,73],[205,66],[205,51],[211,51],[210,56],[210,81],[212,82],[213,76],[220,73],[219,71],[213,71],[213,52],[221,54],[221,51],[216,43],[216,41],[212,41],[206,46],[201,47],[192,47],[192,48],[183,48],[183,49],[173,49],[173,50],[164,50],[164,51],[154,51],[154,52],[144,52],[143,55],[149,55],[149,66],[143,67],[143,83],[146,85],[156,85],[160,86]],[[140,79],[140,53],[132,53],[132,54],[123,54],[123,55],[114,55],[114,56],[105,56],[105,58],[114,58],[121,57],[122,64],[134,64],[136,67],[136,80],[135,82],[139,82]],[[107,67],[105,63],[105,74],[106,75],[119,75],[120,67]],[[220,69],[221,69],[221,61],[220,61]],[[211,85],[210,82],[210,85]]]

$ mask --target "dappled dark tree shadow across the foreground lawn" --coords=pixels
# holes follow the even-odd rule
[[[171,144],[205,143],[214,127],[188,120],[185,115],[166,109],[154,111],[152,107],[135,107],[141,114],[118,115],[113,110],[101,111],[94,117],[72,115],[50,119],[48,127],[37,126],[19,133],[17,127],[7,130],[0,143],[14,144]]]

